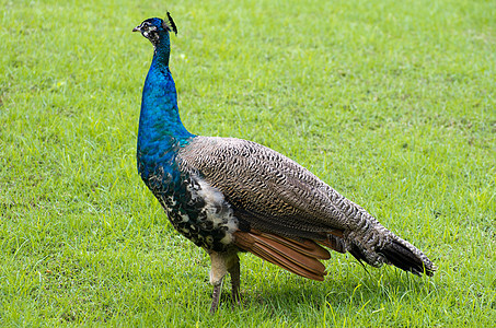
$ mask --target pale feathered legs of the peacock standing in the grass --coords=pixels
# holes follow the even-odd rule
[[[208,253],[211,260],[210,284],[214,285],[211,295],[210,313],[214,314],[219,307],[220,294],[222,293],[222,280],[226,273],[231,274],[232,296],[234,302],[240,301],[240,258],[237,251],[218,253],[210,250]]]

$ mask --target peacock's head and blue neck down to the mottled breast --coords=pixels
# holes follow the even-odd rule
[[[177,93],[169,70],[171,44],[168,26],[160,19],[145,21],[141,33],[153,46],[153,60],[145,81],[138,130],[138,171],[147,179],[158,166],[177,175],[174,157],[177,148],[195,136],[181,121]]]

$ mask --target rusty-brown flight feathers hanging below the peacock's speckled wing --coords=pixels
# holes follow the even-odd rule
[[[238,231],[234,236],[241,249],[301,277],[324,280],[325,267],[319,259],[327,259],[331,255],[311,241],[300,242],[256,231]]]

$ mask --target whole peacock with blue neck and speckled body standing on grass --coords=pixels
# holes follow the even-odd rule
[[[177,27],[166,15],[132,30],[153,45],[137,166],[174,229],[210,256],[211,313],[228,272],[232,298],[240,302],[239,253],[318,281],[324,280],[327,249],[373,267],[434,274],[436,266],[424,253],[295,161],[252,141],[188,132],[169,69],[170,35]]]

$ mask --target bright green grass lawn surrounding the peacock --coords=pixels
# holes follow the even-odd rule
[[[7,1],[0,24],[0,326],[489,327],[496,320],[494,1]],[[151,45],[171,11],[183,121],[310,168],[439,267],[322,283],[209,260],[136,172]]]

